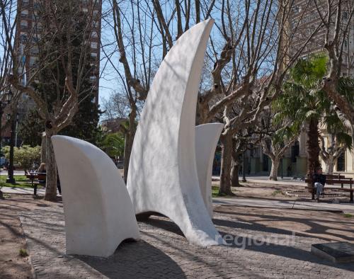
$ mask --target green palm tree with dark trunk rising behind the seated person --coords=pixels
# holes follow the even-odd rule
[[[290,71],[282,95],[273,103],[273,109],[278,112],[275,120],[289,119],[292,125],[307,127],[307,176],[312,176],[320,166],[319,123],[331,110],[331,101],[321,90],[326,64],[323,55],[299,59]]]

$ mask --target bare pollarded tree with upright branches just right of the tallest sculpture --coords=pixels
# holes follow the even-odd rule
[[[298,32],[296,27],[288,28],[292,5],[293,1],[245,1],[237,5],[222,1],[221,23],[216,24],[225,43],[217,55],[217,45],[211,40],[210,57],[215,57],[212,87],[201,93],[198,102],[201,123],[223,111],[221,193],[232,195],[233,135],[256,124],[263,108],[282,92],[288,69],[320,28],[313,28],[297,50],[290,52]]]

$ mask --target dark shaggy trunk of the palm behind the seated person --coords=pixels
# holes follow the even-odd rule
[[[307,177],[311,178],[316,169],[321,166],[319,163],[319,121],[311,118],[307,129]],[[310,186],[311,187],[311,186]]]

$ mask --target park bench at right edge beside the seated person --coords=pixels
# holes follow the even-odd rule
[[[350,203],[353,203],[353,178],[346,178],[345,176],[337,175],[337,174],[325,174],[326,176],[326,184],[341,184],[341,188],[338,187],[328,187],[324,186],[324,190],[340,190],[341,192],[349,192],[350,193]],[[312,182],[312,178],[306,178],[306,183],[311,183],[311,187],[307,187],[309,191],[312,193],[312,200],[314,200],[314,195],[316,189],[314,188],[314,183]],[[344,186],[349,186],[349,188],[344,188]]]

